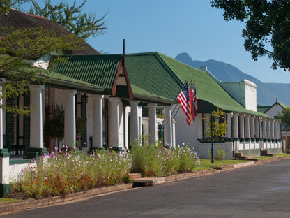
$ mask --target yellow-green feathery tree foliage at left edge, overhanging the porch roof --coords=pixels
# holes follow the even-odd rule
[[[41,68],[33,66],[33,61],[45,55],[79,50],[84,41],[73,34],[63,34],[54,29],[43,27],[5,27],[8,14],[13,3],[24,1],[1,1],[0,3],[0,78],[8,78],[1,82],[1,97],[16,98],[29,92],[31,83],[43,83],[40,75],[45,73]],[[2,24],[1,24],[2,22]],[[4,27],[3,27],[4,26]],[[28,115],[31,107],[2,106],[7,112]]]

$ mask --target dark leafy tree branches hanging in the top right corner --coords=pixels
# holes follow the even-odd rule
[[[273,69],[290,70],[289,0],[213,0],[211,6],[224,10],[224,20],[246,23],[244,46],[254,61],[268,56]]]

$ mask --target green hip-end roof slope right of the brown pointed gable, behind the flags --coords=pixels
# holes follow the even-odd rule
[[[157,52],[126,54],[125,66],[128,71],[133,94],[155,96],[176,102],[176,97],[183,87],[183,82],[160,59]],[[137,89],[138,88],[138,89]]]

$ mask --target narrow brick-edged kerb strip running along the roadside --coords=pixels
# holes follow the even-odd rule
[[[21,210],[31,210],[36,209],[48,205],[54,205],[58,203],[70,203],[73,201],[83,201],[87,200],[88,198],[92,198],[95,196],[99,196],[101,194],[111,194],[116,191],[124,191],[128,189],[132,189],[134,187],[142,187],[142,186],[153,186],[155,184],[162,184],[165,182],[172,182],[176,180],[183,180],[190,177],[200,177],[205,175],[213,175],[215,173],[220,173],[225,170],[231,170],[236,168],[243,168],[247,166],[254,166],[256,164],[261,163],[268,163],[273,161],[280,161],[282,159],[290,159],[290,156],[288,157],[273,157],[270,159],[262,159],[259,161],[248,161],[245,163],[236,163],[236,164],[230,164],[226,166],[217,167],[211,170],[200,170],[200,171],[194,171],[192,173],[182,173],[177,175],[170,175],[167,177],[150,177],[150,178],[137,178],[132,180],[132,183],[130,184],[119,184],[116,186],[110,186],[110,187],[101,187],[97,189],[91,189],[88,191],[82,191],[77,192],[73,194],[68,194],[66,196],[55,196],[52,198],[45,198],[45,199],[29,199],[17,203],[8,203],[0,205],[0,215],[13,213],[13,212],[20,212]]]

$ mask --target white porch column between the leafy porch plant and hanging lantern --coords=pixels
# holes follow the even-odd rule
[[[64,90],[66,108],[64,111],[64,145],[75,148],[75,94],[77,90]]]

